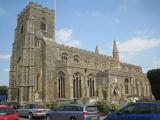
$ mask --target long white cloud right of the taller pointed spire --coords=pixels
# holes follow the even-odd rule
[[[154,38],[152,39],[133,38],[124,43],[118,43],[120,52],[124,52],[127,54],[134,54],[157,46],[160,46],[160,40]]]

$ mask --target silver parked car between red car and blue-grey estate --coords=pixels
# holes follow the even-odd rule
[[[45,117],[50,109],[39,104],[28,104],[17,109],[18,116],[28,117],[29,119],[36,117]]]

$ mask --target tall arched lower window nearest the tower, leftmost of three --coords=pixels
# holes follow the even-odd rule
[[[65,98],[65,74],[63,72],[58,73],[58,97]]]

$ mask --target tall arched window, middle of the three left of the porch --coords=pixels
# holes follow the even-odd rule
[[[82,76],[80,73],[73,75],[73,98],[82,97]]]

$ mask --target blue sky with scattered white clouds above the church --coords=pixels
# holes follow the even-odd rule
[[[8,85],[17,14],[31,0],[0,1],[0,85]],[[54,9],[54,0],[32,0]],[[160,0],[57,0],[56,41],[112,54],[143,71],[160,68]]]

